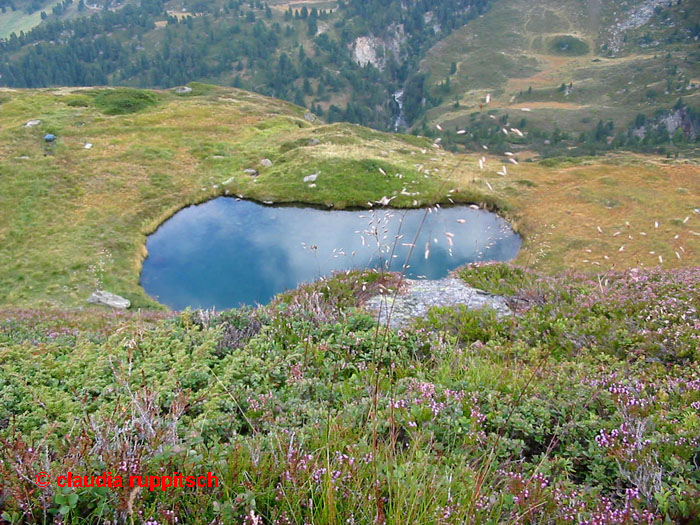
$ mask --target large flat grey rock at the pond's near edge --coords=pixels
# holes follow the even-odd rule
[[[412,319],[423,317],[434,306],[458,305],[472,310],[490,307],[498,316],[512,314],[503,297],[472,288],[453,277],[433,281],[406,279],[404,290],[396,297],[393,294],[374,296],[367,301],[365,308],[379,313],[380,324],[386,324],[387,314],[391,311],[389,326],[400,328]]]

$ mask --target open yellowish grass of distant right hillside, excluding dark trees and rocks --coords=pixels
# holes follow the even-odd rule
[[[624,19],[625,11],[613,11],[613,3],[596,9],[596,3],[600,4],[578,0],[495,2],[483,17],[434,46],[421,63],[433,83],[450,76],[453,61],[458,66],[450,77],[450,95],[429,112],[428,120],[466,125],[486,93],[492,94],[489,109],[497,115],[508,113],[511,119],[517,118],[514,122],[526,117],[530,127],[551,131],[558,126],[573,132],[589,130],[601,119],[612,119],[618,129],[626,127],[636,114],[653,114],[660,107],[673,105],[679,96],[691,104],[700,101],[697,89],[664,93],[667,79],[675,89],[698,76],[700,66],[692,58],[694,45],[639,48],[632,42],[641,34],[649,31],[661,39],[672,31],[659,24],[645,25],[629,32],[629,43],[616,58],[607,58],[601,45],[610,38],[608,29],[613,20]],[[687,3],[681,7],[698,12],[697,6]],[[585,42],[588,52],[556,51],[552,39],[560,35]],[[677,69],[671,73],[674,66]],[[562,82],[573,83],[570,95],[559,91]],[[529,87],[533,92],[528,95]],[[657,93],[653,100],[647,97],[649,89]],[[460,102],[457,109],[453,107],[455,100]],[[532,111],[521,112],[521,107]]]

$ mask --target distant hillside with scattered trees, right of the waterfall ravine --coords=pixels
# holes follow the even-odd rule
[[[494,2],[422,60],[442,102],[417,127],[500,151],[697,153],[699,35],[697,2]]]

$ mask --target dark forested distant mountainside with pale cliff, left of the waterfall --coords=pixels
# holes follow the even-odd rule
[[[406,99],[420,101],[418,60],[487,0],[96,5],[66,0],[31,31],[7,34],[0,83],[162,88],[204,80],[294,101],[331,122],[391,129],[391,94],[405,86]]]

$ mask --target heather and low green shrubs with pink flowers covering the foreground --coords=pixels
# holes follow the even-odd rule
[[[661,523],[700,515],[700,268],[459,272],[515,311],[387,331],[341,274],[257,310],[11,310],[11,523]],[[166,317],[162,319],[162,317]],[[38,488],[212,472],[218,488]]]

